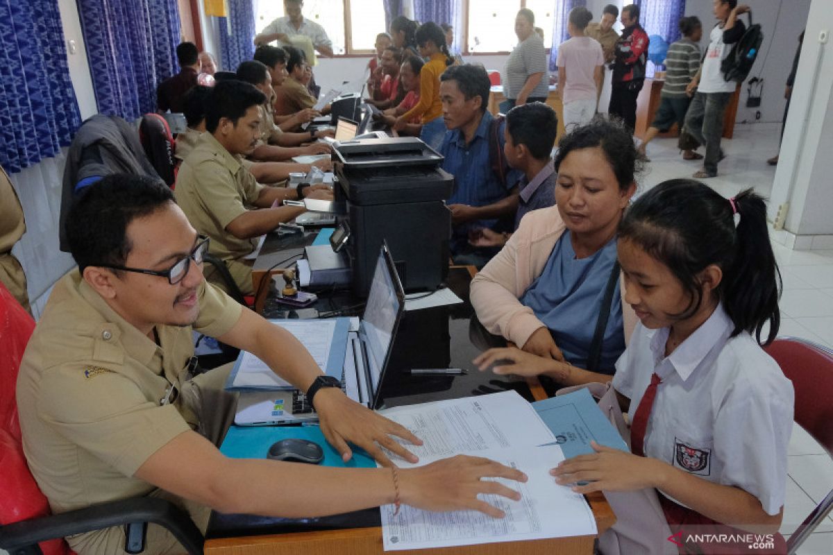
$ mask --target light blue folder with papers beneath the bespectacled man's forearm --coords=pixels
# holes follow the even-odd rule
[[[315,359],[322,372],[341,379],[344,354],[347,352],[349,318],[269,321],[294,335],[312,354],[312,358]],[[232,368],[232,373],[228,376],[226,389],[242,391],[295,389],[295,387],[275,374],[257,356],[241,351]]]

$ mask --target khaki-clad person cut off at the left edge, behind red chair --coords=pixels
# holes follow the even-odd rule
[[[26,275],[20,262],[12,255],[12,246],[26,233],[26,221],[20,200],[0,168],[0,281],[23,308],[32,312],[26,290]]]

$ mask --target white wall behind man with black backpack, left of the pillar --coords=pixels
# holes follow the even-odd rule
[[[752,8],[752,22],[759,23],[764,32],[761,52],[749,78],[763,77],[764,88],[761,107],[746,107],[746,84],[741,87],[741,104],[736,121],[756,121],[756,111],[761,111],[757,121],[781,121],[784,116],[784,87],[790,74],[792,59],[798,47],[798,35],[807,22],[811,0],[744,0]],[[830,0],[826,0],[828,7]],[[686,16],[700,17],[703,22],[703,40],[700,47],[709,44],[709,32],[716,19],[709,0],[688,0]],[[746,15],[741,16],[748,23]],[[747,80],[748,81],[748,80]]]

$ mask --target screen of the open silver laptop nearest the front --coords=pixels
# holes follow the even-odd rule
[[[387,245],[383,245],[377,258],[376,270],[373,271],[370,293],[367,295],[367,305],[362,315],[367,358],[370,363],[372,397],[377,394],[379,379],[382,369],[385,368],[404,302],[402,284],[395,272],[390,251],[387,250]]]

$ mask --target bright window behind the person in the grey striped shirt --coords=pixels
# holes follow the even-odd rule
[[[521,7],[535,14],[535,27],[544,31],[544,46],[552,43],[554,0],[468,0],[466,53],[511,52],[517,44],[515,17]]]

